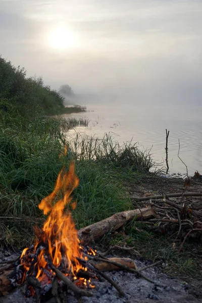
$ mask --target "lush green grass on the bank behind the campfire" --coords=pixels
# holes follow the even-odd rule
[[[39,201],[52,192],[59,171],[63,165],[68,168],[72,159],[76,161],[76,173],[80,180],[73,194],[77,200],[73,216],[78,228],[131,207],[122,182],[116,178],[116,173],[122,166],[119,168],[117,164],[114,165],[100,146],[96,151],[98,158],[94,160],[89,157],[91,150],[89,153],[88,144],[85,145],[87,140],[82,143],[86,155],[83,150],[81,157],[69,147],[67,156],[59,159],[65,144],[68,146],[77,144],[73,140],[67,142],[68,129],[68,121],[59,118],[38,117],[33,120],[21,120],[20,116],[16,115],[14,120],[11,115],[10,120],[9,116],[2,120],[0,131],[0,221],[4,234],[2,243],[16,245],[19,238],[27,243],[33,238],[32,227],[36,222],[41,224],[43,218],[38,209]]]

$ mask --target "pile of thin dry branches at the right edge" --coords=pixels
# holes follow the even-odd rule
[[[178,199],[176,199],[178,197]],[[186,198],[189,197],[189,200]],[[149,219],[145,224],[153,232],[167,234],[173,245],[179,241],[179,251],[188,237],[202,237],[202,199],[194,203],[193,197],[202,197],[201,192],[181,192],[156,196],[131,196],[135,205],[154,208],[158,218]],[[172,198],[172,199],[171,199]]]

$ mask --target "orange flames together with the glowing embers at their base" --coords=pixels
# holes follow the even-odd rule
[[[67,149],[65,150],[65,154]],[[93,287],[90,279],[82,277],[81,272],[87,272],[82,266],[87,257],[83,257],[83,247],[80,245],[77,230],[72,220],[70,209],[75,209],[76,202],[70,197],[74,188],[79,184],[75,174],[74,163],[70,164],[69,172],[63,169],[60,171],[54,191],[41,200],[39,209],[44,215],[49,214],[42,230],[35,228],[36,242],[30,248],[25,248],[21,255],[21,266],[23,276],[21,283],[26,276],[34,276],[41,282],[41,285],[52,283],[55,273],[48,265],[52,262],[66,276],[72,278],[76,285],[81,287]],[[95,255],[92,248],[86,253]]]

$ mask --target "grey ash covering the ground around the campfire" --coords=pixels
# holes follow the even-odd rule
[[[108,256],[112,257],[112,256]],[[113,256],[114,257],[114,256]],[[8,258],[9,259],[9,258]],[[145,267],[151,263],[140,259],[133,259],[137,268]],[[98,281],[93,279],[94,289],[89,291],[93,297],[82,297],[83,303],[199,303],[202,301],[202,292],[193,290],[193,285],[188,284],[179,278],[168,277],[161,272],[162,265],[149,268],[142,272],[155,284],[147,282],[142,278],[137,278],[135,274],[126,271],[112,271],[106,274],[112,278],[125,292],[124,297],[120,297],[117,290],[106,280]],[[34,298],[25,298],[22,288],[17,288],[13,293],[0,297],[1,303],[35,303]],[[42,300],[41,300],[42,302]],[[49,299],[46,303],[54,303],[55,298]],[[68,293],[67,302],[77,303],[73,293]]]

